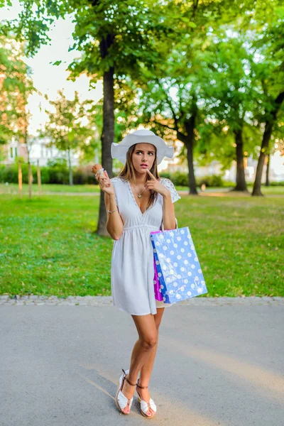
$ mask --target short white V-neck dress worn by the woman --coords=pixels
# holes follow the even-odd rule
[[[157,307],[169,307],[155,299],[154,265],[151,232],[162,229],[163,195],[158,193],[152,207],[142,213],[133,195],[129,181],[112,178],[116,205],[124,222],[119,240],[114,240],[111,253],[112,304],[130,315],[157,313]],[[180,199],[170,179],[160,178],[170,190],[172,202]],[[178,221],[175,218],[178,226]]]

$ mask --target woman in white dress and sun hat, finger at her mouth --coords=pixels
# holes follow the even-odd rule
[[[111,156],[124,163],[118,177],[109,179],[104,172],[99,178],[107,208],[107,231],[115,240],[111,255],[112,301],[132,316],[138,332],[130,368],[122,369],[116,405],[121,413],[129,414],[136,387],[141,414],[153,417],[156,405],[150,398],[148,383],[158,329],[164,309],[170,304],[155,300],[151,231],[175,229],[178,224],[173,202],[180,196],[173,182],[158,177],[157,168],[164,156],[173,158],[173,147],[143,129],[130,133],[119,144],[112,143]]]

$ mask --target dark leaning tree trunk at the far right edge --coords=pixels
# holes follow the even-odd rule
[[[253,192],[251,195],[263,196],[261,192],[261,177],[263,172],[264,160],[266,158],[266,153],[268,152],[268,144],[271,139],[271,133],[273,129],[273,124],[275,123],[277,113],[281,107],[281,104],[284,99],[284,92],[278,94],[278,97],[275,99],[275,105],[273,111],[271,112],[271,116],[266,121],[266,128],[263,133],[262,143],[261,143],[261,153],[258,158],[258,165],[256,168],[256,179],[253,184]]]

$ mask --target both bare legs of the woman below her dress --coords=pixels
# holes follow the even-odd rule
[[[141,371],[139,383],[141,386],[148,386],[158,347],[158,327],[160,326],[164,310],[165,308],[163,307],[158,308],[155,315],[132,315],[139,336],[133,347],[129,374],[127,376],[132,383],[136,383],[138,373]],[[132,398],[134,391],[134,386],[124,381],[122,392],[126,398]],[[139,393],[142,399],[149,399],[148,389],[139,388]],[[124,412],[129,413],[129,405],[126,405]],[[150,409],[148,415],[152,413],[153,410]]]

